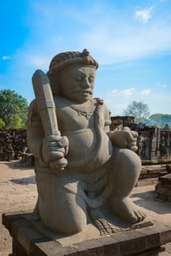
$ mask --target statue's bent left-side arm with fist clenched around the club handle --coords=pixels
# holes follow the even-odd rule
[[[39,163],[50,165],[50,168],[55,169],[61,169],[67,165],[64,156],[68,151],[68,139],[66,136],[59,135],[45,137],[35,99],[28,108],[27,143],[31,153],[39,159]]]

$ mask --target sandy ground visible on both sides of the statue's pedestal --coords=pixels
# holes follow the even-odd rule
[[[148,218],[171,224],[171,203],[156,200],[154,186],[136,187],[132,200],[141,206]],[[34,170],[23,167],[19,162],[0,162],[0,214],[26,211],[34,208],[37,188]],[[12,252],[12,238],[0,222],[0,256]],[[160,256],[171,256],[171,243]]]

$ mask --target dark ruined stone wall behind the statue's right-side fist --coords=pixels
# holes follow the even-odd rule
[[[170,162],[171,161],[171,130],[148,127],[145,124],[135,124],[134,117],[112,117],[111,130],[129,127],[137,131],[137,154],[142,162]]]

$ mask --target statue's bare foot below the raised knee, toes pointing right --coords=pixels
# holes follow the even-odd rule
[[[115,198],[112,202],[113,212],[129,223],[142,222],[145,219],[145,213],[136,206],[129,197]]]

